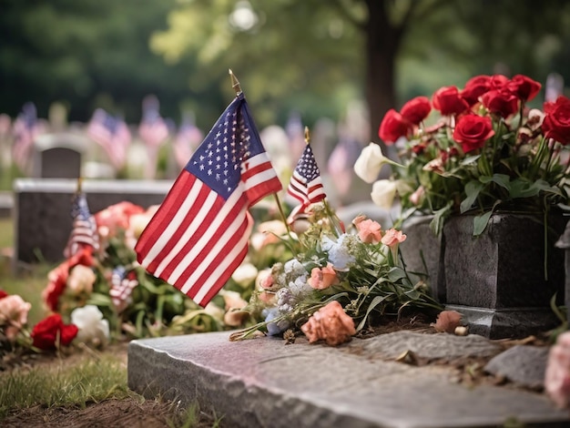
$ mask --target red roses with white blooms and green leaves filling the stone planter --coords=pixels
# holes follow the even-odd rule
[[[436,233],[456,213],[477,213],[475,235],[498,209],[547,213],[568,201],[570,99],[529,108],[540,88],[528,76],[474,76],[463,89],[415,97],[400,111],[389,110],[379,128],[401,163],[371,143],[355,172],[373,183],[378,205],[390,207],[398,195],[404,218],[433,214]],[[377,180],[384,164],[392,176]]]

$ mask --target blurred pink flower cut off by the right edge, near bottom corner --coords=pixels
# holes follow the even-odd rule
[[[570,331],[560,334],[548,353],[545,392],[558,407],[570,406]]]

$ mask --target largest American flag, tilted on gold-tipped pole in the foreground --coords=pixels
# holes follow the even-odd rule
[[[281,183],[243,93],[226,108],[137,241],[137,260],[205,306],[248,252],[249,207]]]

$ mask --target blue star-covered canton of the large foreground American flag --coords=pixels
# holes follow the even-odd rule
[[[223,199],[238,187],[241,165],[262,153],[260,136],[243,94],[226,108],[185,169]]]

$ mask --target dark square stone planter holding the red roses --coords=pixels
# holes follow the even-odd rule
[[[548,219],[545,254],[542,215],[497,212],[479,237],[473,237],[472,216],[448,219],[439,240],[433,234],[432,239],[422,237],[439,244],[431,250],[427,243],[422,248],[433,260],[428,273],[434,296],[447,309],[463,313],[470,332],[491,339],[524,337],[556,327],[560,321],[550,301],[556,293],[558,304],[564,302],[565,254],[555,242],[567,220],[554,215]],[[404,228],[408,237],[418,232],[417,224],[412,226],[415,231]],[[412,245],[413,240],[417,238],[412,238]],[[419,245],[416,242],[415,252]],[[409,249],[402,251],[405,261]]]

